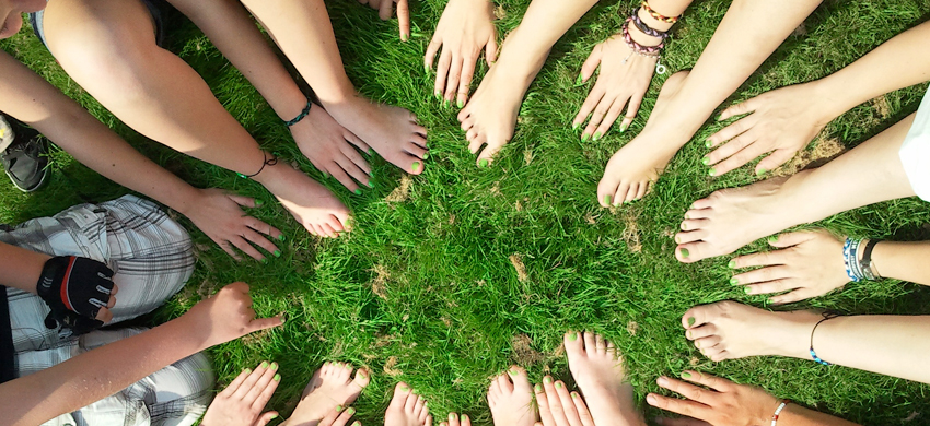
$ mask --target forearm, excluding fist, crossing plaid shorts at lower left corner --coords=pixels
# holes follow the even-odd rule
[[[182,317],[39,372],[0,384],[0,424],[37,425],[72,412],[207,348]]]

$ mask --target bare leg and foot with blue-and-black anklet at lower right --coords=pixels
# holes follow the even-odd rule
[[[771,312],[720,301],[691,308],[682,324],[712,360],[764,355],[812,359],[811,335],[821,319],[806,310]],[[930,383],[928,333],[930,316],[837,317],[817,327],[813,345],[828,363]]]

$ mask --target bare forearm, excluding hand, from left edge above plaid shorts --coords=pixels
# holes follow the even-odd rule
[[[75,102],[25,66],[0,54],[0,109],[26,122],[108,179],[184,214],[197,189],[132,149]]]

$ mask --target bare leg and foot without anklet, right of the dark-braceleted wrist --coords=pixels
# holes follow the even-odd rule
[[[412,113],[372,104],[359,95],[342,68],[323,0],[242,0],[340,125],[384,159],[412,174],[423,170],[427,129]]]

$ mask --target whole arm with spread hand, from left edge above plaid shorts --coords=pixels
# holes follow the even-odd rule
[[[248,240],[274,252],[272,242],[256,234],[277,238],[281,233],[245,216],[240,205],[255,201],[212,189],[197,189],[160,167],[75,102],[5,52],[0,52],[0,110],[26,122],[75,159],[111,180],[151,197],[184,214],[226,252],[231,245],[263,259]]]

